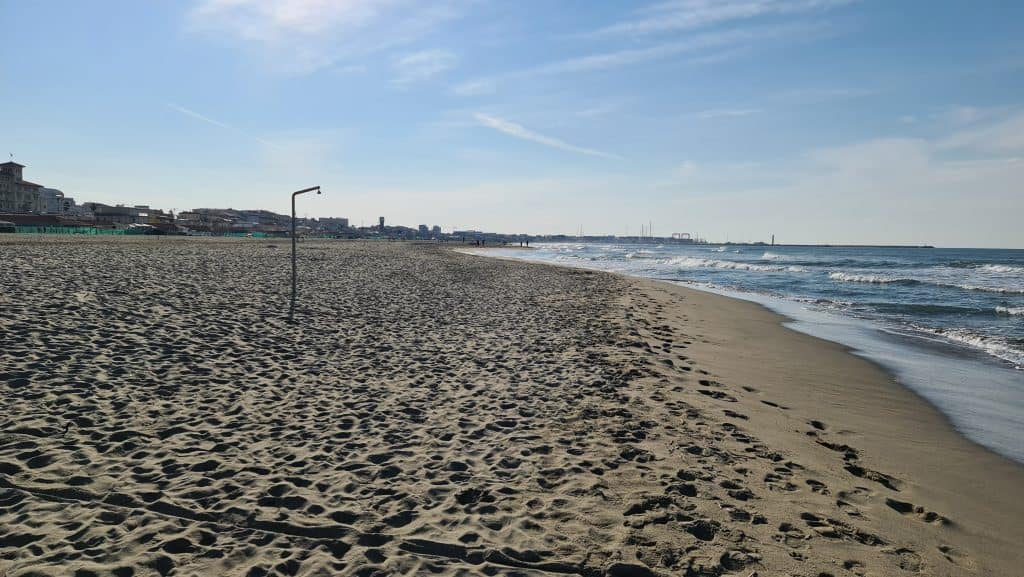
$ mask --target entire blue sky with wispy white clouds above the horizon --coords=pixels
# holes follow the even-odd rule
[[[0,146],[79,201],[1024,247],[1021,2],[0,11]]]

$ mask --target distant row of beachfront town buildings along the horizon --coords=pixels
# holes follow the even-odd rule
[[[23,164],[0,164],[0,233],[82,235],[186,235],[221,237],[290,237],[292,218],[263,209],[193,208],[164,210],[147,205],[109,205],[78,202],[57,189],[25,179]],[[470,243],[617,242],[703,244],[689,234],[657,237],[584,235],[528,235],[489,233],[472,229],[442,231],[437,224],[389,224],[384,216],[370,225],[355,226],[344,217],[295,219],[297,236],[336,239],[457,241]],[[640,230],[643,230],[641,224]]]

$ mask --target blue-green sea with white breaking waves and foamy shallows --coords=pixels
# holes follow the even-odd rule
[[[1024,463],[1024,250],[568,242],[488,253],[759,302],[889,369],[967,438]]]

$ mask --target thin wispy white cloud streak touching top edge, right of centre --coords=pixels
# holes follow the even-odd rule
[[[685,32],[773,14],[826,10],[853,0],[670,0],[648,6],[637,17],[597,31],[598,35],[642,36]]]

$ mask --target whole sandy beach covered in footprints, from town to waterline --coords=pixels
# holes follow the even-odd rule
[[[1022,467],[752,303],[0,237],[0,575],[1018,575]]]

